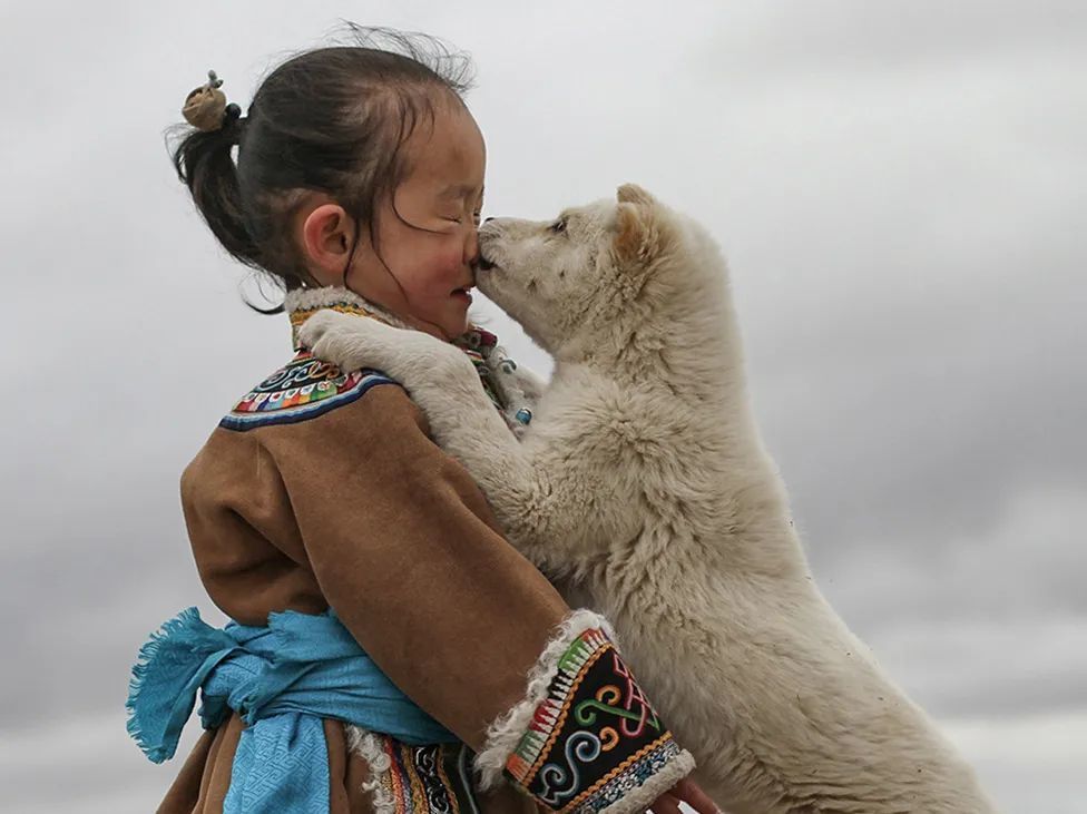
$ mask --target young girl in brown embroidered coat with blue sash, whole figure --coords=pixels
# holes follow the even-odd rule
[[[296,56],[245,117],[212,73],[175,165],[227,252],[282,283],[295,328],[335,308],[427,331],[488,384],[494,341],[468,323],[484,148],[463,62],[399,45]],[[129,729],[154,761],[203,695],[207,732],[159,811],[713,812],[607,621],[506,543],[409,395],[295,350],[182,479],[232,622],[184,611],[134,668]]]

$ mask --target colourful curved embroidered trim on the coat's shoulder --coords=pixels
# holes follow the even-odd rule
[[[309,351],[261,382],[221,422],[227,430],[291,424],[326,413],[359,399],[375,384],[395,384],[376,371],[344,373]]]

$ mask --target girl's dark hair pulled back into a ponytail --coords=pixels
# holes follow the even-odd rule
[[[185,128],[173,149],[218,242],[285,291],[312,282],[290,228],[305,193],[326,193],[373,236],[376,202],[410,169],[404,141],[433,119],[435,100],[471,85],[470,59],[432,37],[351,23],[345,37],[292,56],[245,117],[210,133]]]

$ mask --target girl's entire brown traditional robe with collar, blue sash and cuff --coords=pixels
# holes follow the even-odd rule
[[[320,308],[394,320],[342,290],[290,292],[285,307],[294,326]],[[464,343],[503,415],[531,410],[535,382],[493,337]],[[203,695],[206,732],[158,811],[645,812],[693,758],[667,757],[607,620],[571,610],[510,550],[402,386],[295,351],[182,477],[200,578],[237,625],[184,615],[140,654],[131,732],[149,756],[173,754]],[[437,728],[405,728],[390,687]],[[518,771],[555,804],[509,782]]]

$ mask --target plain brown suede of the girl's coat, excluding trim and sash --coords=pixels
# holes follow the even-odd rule
[[[395,384],[295,423],[216,429],[182,479],[214,602],[245,625],[333,607],[381,669],[477,752],[526,694],[569,608],[499,533],[464,469]],[[205,733],[159,808],[222,811],[242,730]],[[333,814],[371,812],[365,762],[325,722]],[[505,785],[488,814],[532,812]]]

